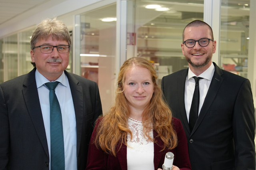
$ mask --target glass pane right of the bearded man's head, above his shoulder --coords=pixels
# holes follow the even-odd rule
[[[220,67],[247,78],[250,0],[222,0]]]

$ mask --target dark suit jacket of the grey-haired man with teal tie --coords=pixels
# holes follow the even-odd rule
[[[48,170],[49,153],[35,71],[0,84],[0,170]],[[77,131],[78,170],[86,167],[94,122],[102,114],[98,85],[65,71]]]

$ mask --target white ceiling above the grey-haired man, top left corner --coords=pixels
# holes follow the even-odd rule
[[[38,24],[42,18],[60,16],[73,8],[73,0],[0,0],[0,34],[6,35],[14,30]],[[80,0],[87,1],[87,0]],[[97,1],[97,0],[90,0]],[[65,6],[65,8],[63,8]],[[74,5],[73,5],[74,6]],[[63,10],[65,9],[65,10]],[[77,8],[75,8],[77,9]],[[1,37],[1,36],[0,36]]]

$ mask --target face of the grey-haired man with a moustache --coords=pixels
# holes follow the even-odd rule
[[[35,46],[39,45],[68,45],[66,41],[53,40],[49,36],[46,40],[40,39]],[[36,69],[49,81],[55,81],[68,67],[69,52],[59,53],[54,47],[51,53],[42,53],[40,47],[30,51],[32,62],[36,63]]]

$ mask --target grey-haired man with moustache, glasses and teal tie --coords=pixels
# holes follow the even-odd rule
[[[94,122],[102,115],[97,83],[68,73],[71,39],[53,19],[30,42],[34,69],[0,84],[0,169],[84,170]]]

